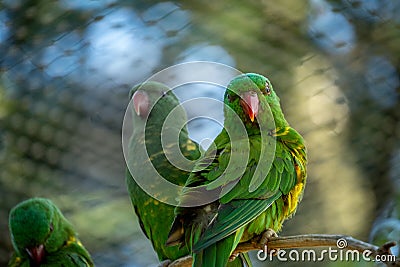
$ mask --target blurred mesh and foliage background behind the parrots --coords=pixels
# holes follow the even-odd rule
[[[281,235],[400,241],[400,2],[186,2],[2,1],[1,266],[8,212],[32,196],[59,205],[97,266],[156,265],[125,188],[122,120],[134,84],[191,60],[268,76],[304,135],[308,186]],[[365,265],[314,265],[328,264]]]

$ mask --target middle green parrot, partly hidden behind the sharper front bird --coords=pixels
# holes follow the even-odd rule
[[[167,86],[158,82],[146,82],[135,86],[130,92],[130,97],[134,112],[132,112],[133,134],[127,158],[131,168],[130,170],[127,168],[126,171],[129,195],[142,231],[150,239],[159,260],[173,261],[189,254],[187,248],[165,245],[174,219],[175,207],[157,200],[154,195],[148,195],[137,181],[141,179],[150,183],[158,199],[163,198],[161,191],[164,188],[154,177],[155,171],[159,173],[159,179],[166,179],[173,184],[183,186],[189,172],[174,166],[170,162],[171,158],[167,158],[167,154],[173,154],[173,146],[179,145],[177,148],[188,160],[196,160],[201,155],[199,146],[188,137],[185,126],[186,112]],[[171,113],[174,123],[164,125]],[[182,126],[184,127],[181,128]],[[175,134],[177,139],[167,139],[162,143],[163,131],[168,135]]]

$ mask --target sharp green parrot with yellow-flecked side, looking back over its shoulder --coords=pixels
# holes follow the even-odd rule
[[[239,243],[276,235],[306,183],[304,140],[266,77],[234,78],[224,104],[224,129],[189,176],[167,240],[189,247],[193,266],[226,266]]]

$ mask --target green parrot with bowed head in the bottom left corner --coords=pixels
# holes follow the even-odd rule
[[[94,266],[72,225],[48,199],[16,205],[9,229],[15,252],[8,266]]]

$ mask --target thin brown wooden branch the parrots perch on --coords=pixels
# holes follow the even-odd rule
[[[325,234],[271,237],[268,239],[266,244],[261,244],[258,242],[258,240],[260,240],[260,237],[239,244],[235,249],[234,254],[248,252],[252,250],[265,250],[265,245],[268,247],[268,251],[278,251],[279,249],[332,247],[336,250],[344,249],[359,251],[360,253],[366,253],[364,255],[368,256],[370,259],[375,259],[377,256],[382,257],[384,255],[385,257],[387,257],[388,255],[392,255],[390,248],[396,245],[395,242],[389,242],[382,247],[377,247],[375,245],[355,239],[351,236]],[[326,257],[326,259],[328,259],[328,257]],[[387,266],[400,267],[400,259],[397,257],[394,261],[384,263]],[[168,267],[190,266],[192,266],[191,256],[179,258],[168,265]]]

